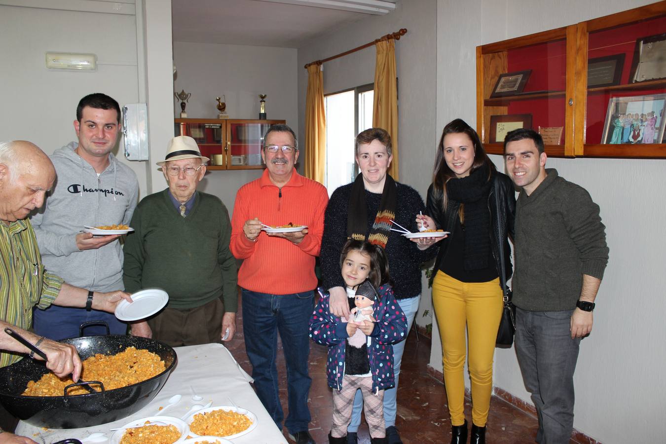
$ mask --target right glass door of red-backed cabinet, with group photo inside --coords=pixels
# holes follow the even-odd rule
[[[621,25],[618,19],[587,22],[585,132],[576,154],[651,156],[661,150],[663,156],[657,144],[665,141],[666,15]]]

